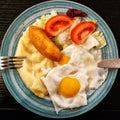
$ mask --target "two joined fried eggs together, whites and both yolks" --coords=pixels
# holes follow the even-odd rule
[[[97,68],[100,57],[95,59],[95,53],[74,44],[62,53],[60,62],[42,78],[57,113],[87,105],[87,91],[101,85],[102,70]]]

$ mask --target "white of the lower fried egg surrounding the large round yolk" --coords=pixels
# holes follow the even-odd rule
[[[76,96],[72,98],[65,98],[58,93],[59,83],[64,77],[71,77],[79,80],[81,88]],[[55,106],[57,113],[61,109],[75,108],[87,104],[87,78],[88,77],[86,75],[85,69],[78,68],[77,66],[72,66],[70,64],[57,66],[48,73],[46,78],[42,78],[48,89],[50,98]]]

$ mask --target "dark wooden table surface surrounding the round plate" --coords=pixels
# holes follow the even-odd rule
[[[0,0],[0,45],[6,30],[24,10],[44,0]],[[120,1],[119,0],[74,0],[96,11],[111,28],[120,49]],[[0,119],[48,119],[22,107],[7,90],[0,74]],[[120,119],[120,72],[109,94],[91,111],[70,119],[101,120]]]

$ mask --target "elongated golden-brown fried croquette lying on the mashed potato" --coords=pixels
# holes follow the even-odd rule
[[[29,27],[29,37],[34,47],[47,58],[53,61],[59,61],[61,58],[61,52],[52,40],[45,34],[45,32],[36,27]]]

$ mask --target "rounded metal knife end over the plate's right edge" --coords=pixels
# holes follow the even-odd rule
[[[108,59],[98,63],[101,68],[120,68],[120,59]]]

